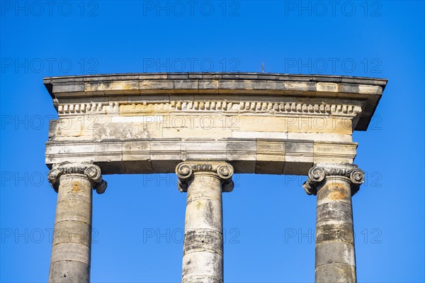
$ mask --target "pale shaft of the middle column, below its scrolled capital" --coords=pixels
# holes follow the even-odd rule
[[[182,282],[222,282],[222,187],[218,177],[195,173],[188,186]]]

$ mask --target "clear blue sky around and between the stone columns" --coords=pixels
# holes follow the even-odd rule
[[[47,3],[46,3],[47,2]],[[57,194],[42,77],[240,71],[389,79],[353,197],[358,282],[424,282],[423,1],[1,1],[1,282],[45,282]],[[179,282],[186,194],[173,175],[107,175],[92,282]],[[314,281],[305,177],[244,174],[225,194],[226,282]]]

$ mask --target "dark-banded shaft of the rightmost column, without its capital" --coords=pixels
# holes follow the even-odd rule
[[[317,190],[316,282],[356,282],[351,187],[327,177]]]

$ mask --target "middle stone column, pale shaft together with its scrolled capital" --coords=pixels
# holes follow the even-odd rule
[[[222,192],[233,189],[225,162],[182,162],[179,190],[187,192],[182,283],[223,282]]]

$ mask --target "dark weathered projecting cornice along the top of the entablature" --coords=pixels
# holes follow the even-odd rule
[[[356,130],[365,131],[387,79],[316,74],[181,72],[45,77],[53,99],[145,94],[302,96],[365,101]]]

